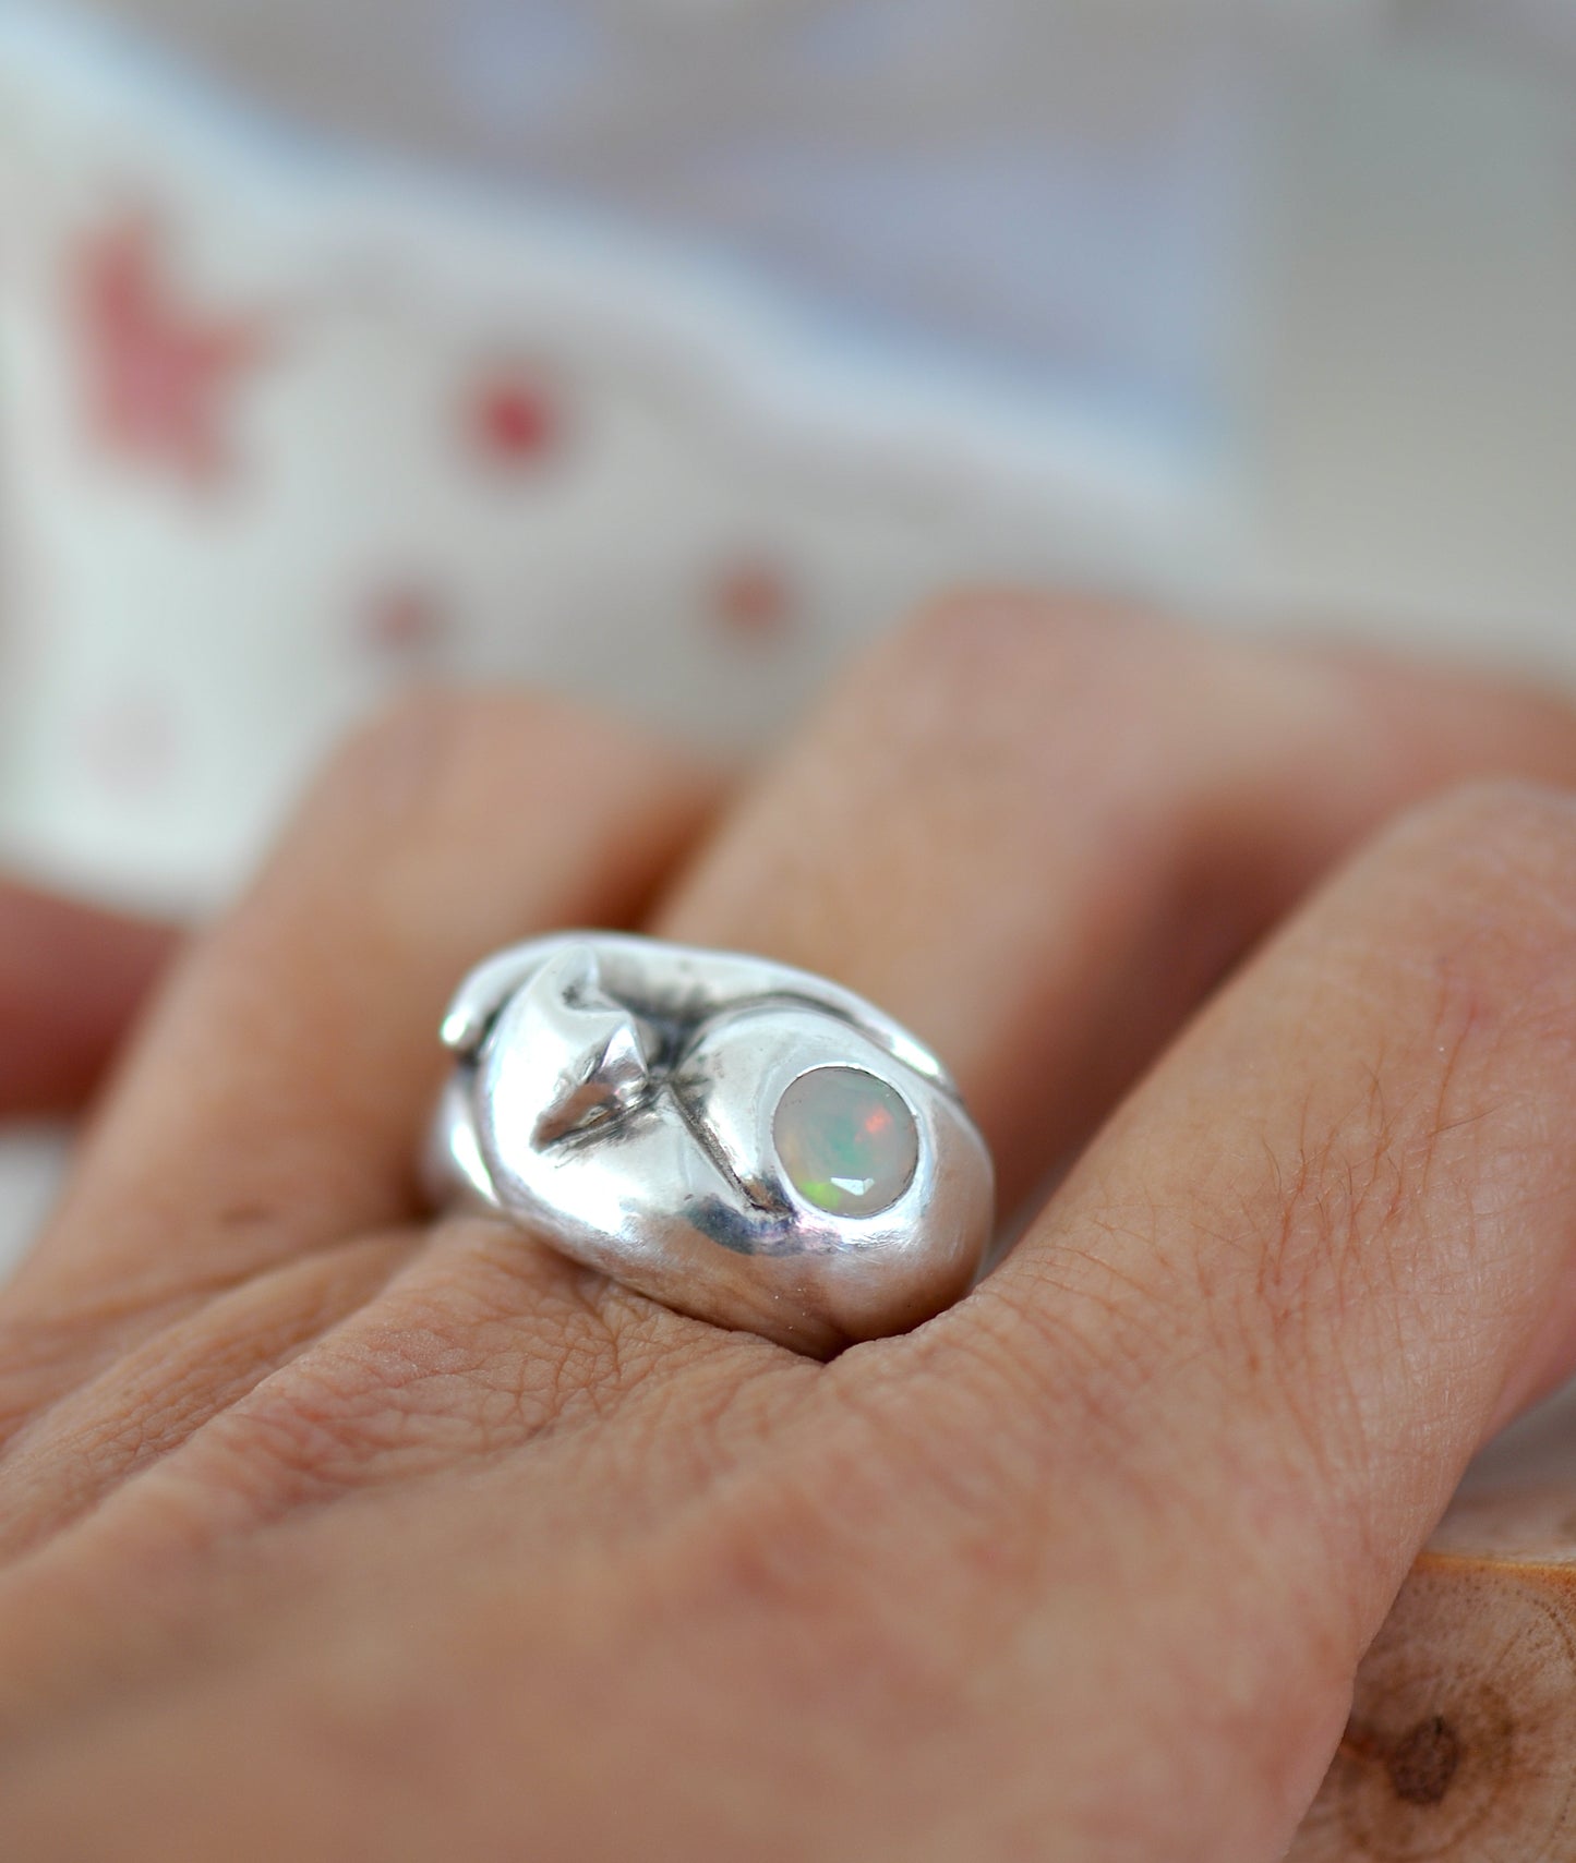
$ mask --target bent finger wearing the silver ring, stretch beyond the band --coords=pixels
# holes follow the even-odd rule
[[[1012,1207],[1347,846],[1474,773],[1576,782],[1576,719],[1371,656],[961,602],[840,682],[656,930],[913,1027]]]

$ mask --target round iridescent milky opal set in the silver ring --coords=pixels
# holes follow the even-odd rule
[[[918,1168],[918,1127],[903,1095],[863,1067],[812,1067],[771,1125],[788,1181],[829,1217],[890,1209]]]

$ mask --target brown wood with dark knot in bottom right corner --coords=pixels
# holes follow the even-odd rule
[[[1362,1666],[1289,1863],[1576,1863],[1576,1394],[1496,1444]]]

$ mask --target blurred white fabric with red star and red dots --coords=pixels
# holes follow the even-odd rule
[[[1224,209],[1174,153],[1146,151],[1129,192],[1168,225],[1140,296],[1181,307],[1209,294]],[[1082,335],[1056,367],[944,328],[969,197],[1034,156],[961,164],[935,307],[915,294],[903,328],[902,142],[825,222],[842,270],[827,248],[775,292],[740,253],[663,238],[656,209],[570,212],[283,132],[134,43],[0,4],[0,510],[26,641],[0,848],[212,898],[412,671],[529,676],[743,749],[933,589],[1175,583],[1220,464],[1194,315],[1166,333],[1134,309],[1107,339],[1110,291],[1066,283]],[[801,168],[827,158],[807,143]],[[810,224],[835,175],[773,160],[762,197]],[[1066,212],[1097,220],[1099,192]],[[980,225],[965,272],[995,328],[1010,242]],[[237,354],[194,363],[214,343]],[[138,397],[181,367],[211,376],[194,432],[149,428]],[[540,456],[484,456],[490,382],[546,402]],[[114,393],[130,414],[104,414]]]

